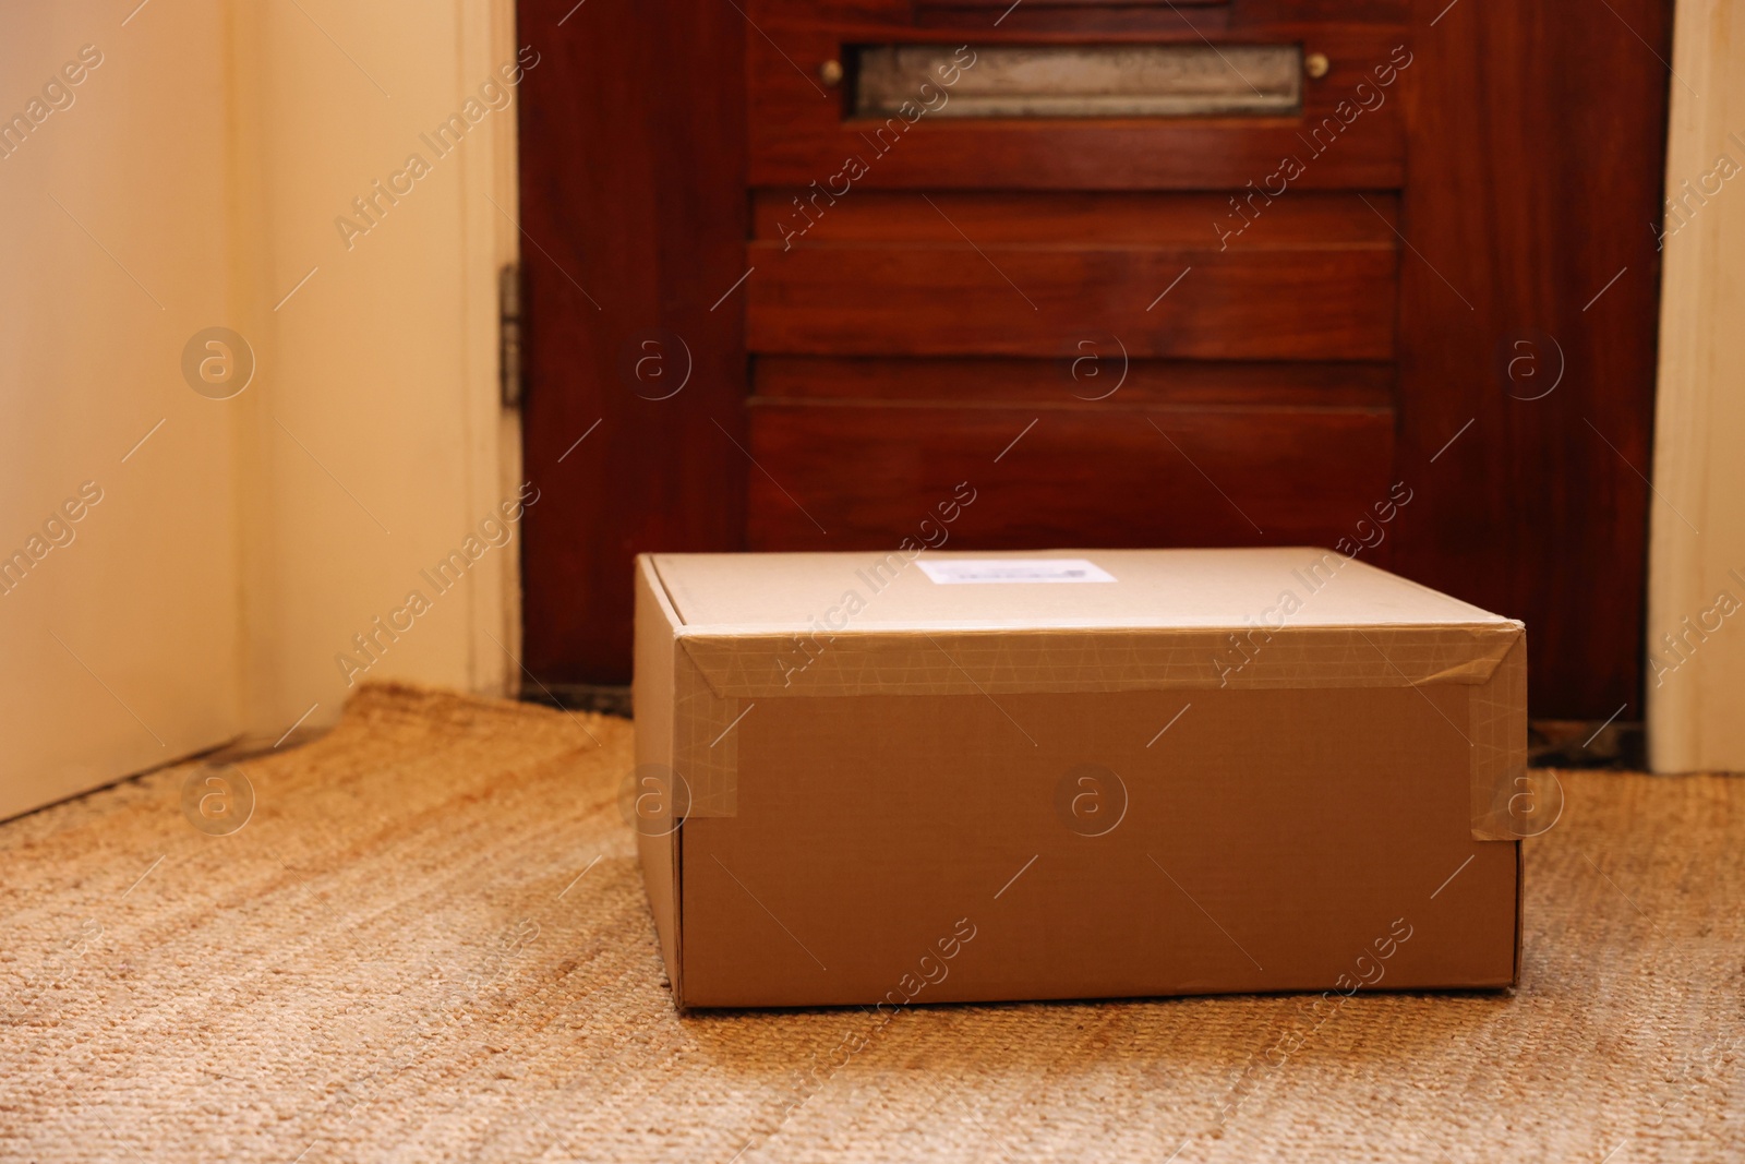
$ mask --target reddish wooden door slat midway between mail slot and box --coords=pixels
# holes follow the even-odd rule
[[[754,243],[750,251],[759,276],[768,270],[750,288],[754,353],[1061,356],[1105,333],[1133,356],[1386,359],[1394,351],[1389,244],[1216,260],[1185,248],[876,244],[784,257],[775,243]]]

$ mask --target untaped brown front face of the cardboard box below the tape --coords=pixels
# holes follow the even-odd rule
[[[686,1002],[1515,981],[1468,686],[759,702],[686,824]]]

